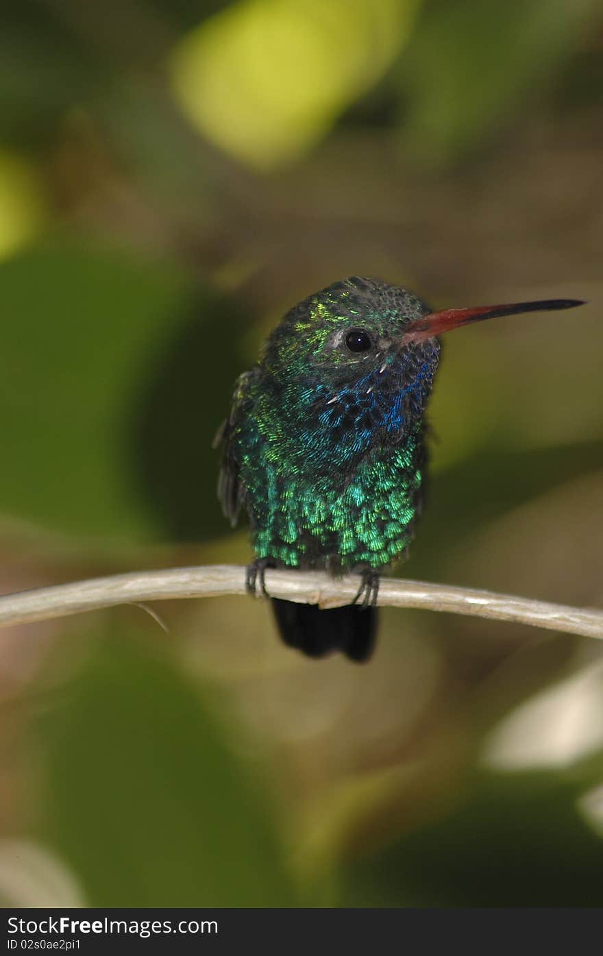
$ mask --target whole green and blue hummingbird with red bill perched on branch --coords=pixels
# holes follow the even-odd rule
[[[355,603],[272,598],[285,643],[310,657],[366,661],[377,629],[379,570],[407,551],[421,511],[425,409],[438,336],[497,315],[571,309],[574,299],[432,312],[414,293],[352,278],[310,295],[276,326],[237,380],[218,493],[232,525],[248,511],[255,560],[269,567],[355,572]],[[266,593],[266,591],[265,591]]]

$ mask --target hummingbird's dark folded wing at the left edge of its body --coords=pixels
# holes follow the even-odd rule
[[[218,478],[218,498],[226,518],[234,528],[245,497],[245,489],[239,481],[239,461],[237,443],[233,441],[251,407],[251,389],[253,380],[261,374],[256,366],[240,375],[234,387],[230,415],[218,428],[213,440],[214,448],[223,445],[222,464]]]

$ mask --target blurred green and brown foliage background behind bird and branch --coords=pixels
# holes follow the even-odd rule
[[[291,304],[575,296],[445,342],[398,573],[601,606],[601,0],[5,0],[0,581],[247,562],[210,443]],[[262,601],[4,630],[20,905],[603,904],[596,641]]]

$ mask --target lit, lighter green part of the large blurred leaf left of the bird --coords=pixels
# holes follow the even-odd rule
[[[32,250],[0,266],[0,508],[66,532],[148,537],[128,404],[191,292],[118,251]]]

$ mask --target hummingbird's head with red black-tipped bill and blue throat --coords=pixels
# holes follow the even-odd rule
[[[438,336],[495,315],[565,309],[574,300],[432,312],[418,295],[353,276],[304,299],[274,329],[262,365],[288,415],[364,450],[398,442],[424,414]]]

